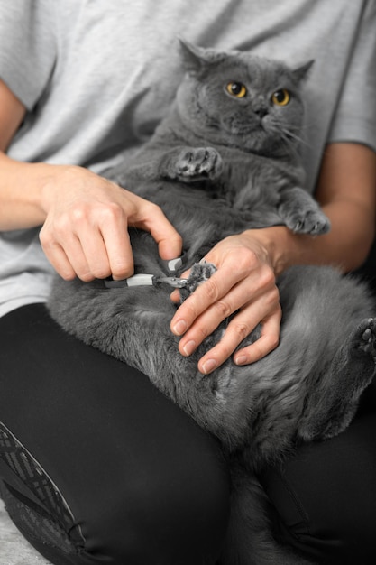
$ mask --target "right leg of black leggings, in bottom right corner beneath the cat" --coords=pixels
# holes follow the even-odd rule
[[[376,563],[376,386],[346,431],[309,443],[261,484],[276,535],[323,565]]]

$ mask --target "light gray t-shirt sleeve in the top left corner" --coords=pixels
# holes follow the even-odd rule
[[[49,82],[56,58],[50,0],[0,3],[0,79],[28,110]]]

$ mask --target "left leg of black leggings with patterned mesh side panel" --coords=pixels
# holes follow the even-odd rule
[[[0,319],[0,341],[0,421],[58,486],[83,534],[73,528],[69,544],[58,520],[50,533],[38,492],[18,496],[5,469],[5,503],[29,541],[57,565],[213,565],[229,506],[216,440],[146,376],[68,337],[42,305]],[[19,515],[24,505],[31,516]]]

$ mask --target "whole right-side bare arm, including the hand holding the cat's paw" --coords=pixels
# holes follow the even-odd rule
[[[330,218],[325,236],[294,235],[287,227],[248,230],[217,244],[206,260],[217,272],[188,298],[171,320],[182,336],[179,351],[190,355],[225,317],[239,310],[225,335],[199,361],[209,373],[230,357],[258,323],[261,338],[236,351],[234,362],[245,365],[278,345],[280,303],[275,276],[293,264],[335,264],[350,271],[362,264],[375,234],[376,153],[361,144],[326,148],[317,199]]]

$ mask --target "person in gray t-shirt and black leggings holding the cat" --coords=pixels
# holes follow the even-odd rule
[[[129,368],[124,378],[123,364],[50,320],[52,267],[83,281],[129,276],[129,225],[150,231],[163,259],[180,254],[181,238],[159,208],[101,177],[165,115],[181,79],[179,33],[293,63],[314,58],[303,149],[307,189],[316,189],[331,232],[311,238],[278,226],[226,238],[206,255],[215,275],[171,320],[189,356],[237,312],[200,360],[204,374],[258,323],[261,338],[236,351],[234,362],[252,363],[277,347],[276,275],[298,263],[353,270],[374,236],[375,5],[300,0],[276,10],[210,0],[155,10],[147,0],[116,9],[39,0],[0,11],[2,496],[22,533],[58,565],[216,563],[229,508],[216,440],[144,375]],[[337,40],[330,45],[329,34]],[[307,559],[373,562],[375,414],[371,388],[342,436],[265,470],[276,529]],[[9,452],[18,465],[9,464]]]

